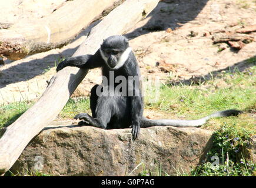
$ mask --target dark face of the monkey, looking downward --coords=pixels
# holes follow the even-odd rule
[[[117,66],[118,61],[122,55],[121,50],[119,49],[112,49],[112,48],[104,48],[102,49],[103,55],[105,56],[105,62],[109,66],[109,68],[115,68]]]

